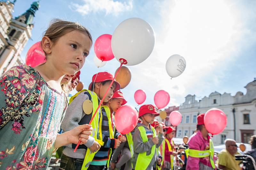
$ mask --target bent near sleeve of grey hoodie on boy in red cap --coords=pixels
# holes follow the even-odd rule
[[[152,139],[143,143],[142,138],[140,136],[140,131],[138,128],[135,130],[133,138],[134,138],[133,147],[134,147],[134,152],[136,153],[148,152],[149,150],[151,150],[151,147],[155,145]]]

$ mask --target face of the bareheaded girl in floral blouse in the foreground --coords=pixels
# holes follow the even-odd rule
[[[47,61],[52,63],[60,74],[73,75],[83,67],[91,46],[88,35],[76,30],[68,32],[51,45]]]

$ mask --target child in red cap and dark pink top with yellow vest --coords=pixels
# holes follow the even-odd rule
[[[172,138],[175,135],[175,129],[171,126],[165,128],[165,149],[164,149],[164,165],[163,170],[173,169],[173,156],[176,156],[177,153],[174,152],[174,142]]]

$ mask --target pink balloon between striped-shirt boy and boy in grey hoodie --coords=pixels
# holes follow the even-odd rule
[[[127,134],[131,132],[138,123],[137,110],[129,105],[121,106],[115,114],[116,130],[121,134]]]

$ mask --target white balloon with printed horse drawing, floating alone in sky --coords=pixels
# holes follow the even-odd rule
[[[186,60],[184,57],[174,54],[166,61],[165,68],[170,77],[177,77],[185,70]]]

